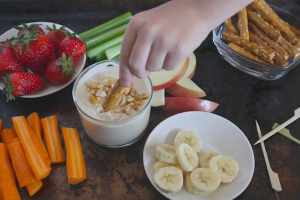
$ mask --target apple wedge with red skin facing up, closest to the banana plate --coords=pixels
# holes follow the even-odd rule
[[[184,111],[212,112],[219,104],[210,100],[190,97],[170,96],[164,98],[165,105],[161,108],[170,113],[177,114]]]

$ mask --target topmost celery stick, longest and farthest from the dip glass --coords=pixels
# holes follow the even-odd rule
[[[104,22],[100,25],[97,25],[91,29],[81,32],[78,34],[78,36],[83,40],[85,40],[84,38],[92,38],[98,34],[101,34],[103,32],[111,30],[112,28],[115,28],[122,24],[128,23],[131,18],[132,18],[131,12],[126,12],[124,14],[121,14],[121,15],[109,20],[109,21],[106,21],[106,22]]]

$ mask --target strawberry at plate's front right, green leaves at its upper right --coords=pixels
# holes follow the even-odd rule
[[[64,84],[75,73],[72,56],[66,59],[65,53],[61,57],[49,63],[45,71],[45,79],[51,84]]]

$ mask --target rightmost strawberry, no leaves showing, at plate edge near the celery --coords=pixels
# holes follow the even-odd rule
[[[85,52],[85,43],[78,37],[64,37],[59,43],[59,56],[65,53],[66,57],[72,56],[74,64]]]

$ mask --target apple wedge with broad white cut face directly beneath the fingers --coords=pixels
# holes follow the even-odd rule
[[[177,82],[185,73],[189,62],[189,57],[185,58],[177,68],[174,70],[160,70],[151,72],[149,78],[151,79],[153,90],[164,89],[175,82]]]

